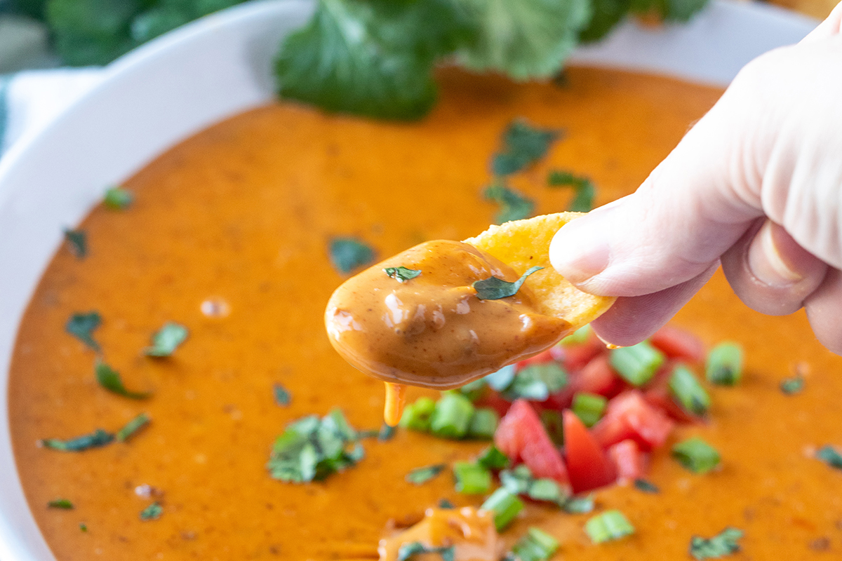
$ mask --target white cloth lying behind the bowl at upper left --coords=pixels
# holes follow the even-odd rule
[[[102,68],[22,71],[0,77],[0,157],[56,119],[104,78]]]

